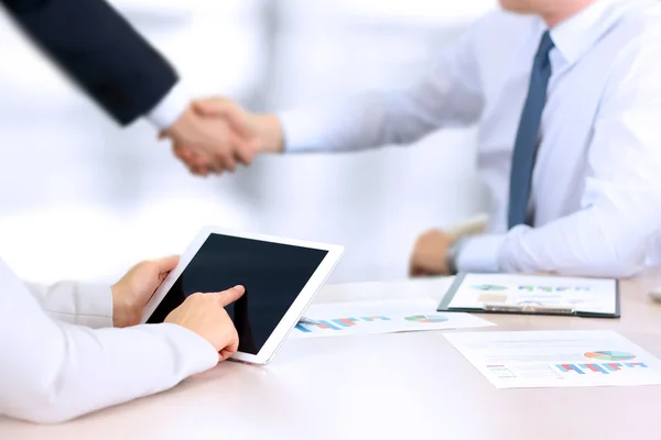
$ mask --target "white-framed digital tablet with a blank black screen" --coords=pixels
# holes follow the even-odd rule
[[[163,322],[188,295],[242,285],[243,296],[227,307],[239,333],[232,359],[266,364],[343,251],[337,245],[205,228],[148,302],[142,322]]]

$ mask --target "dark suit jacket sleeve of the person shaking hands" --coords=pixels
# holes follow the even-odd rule
[[[52,59],[121,124],[177,82],[174,68],[104,0],[0,0]]]

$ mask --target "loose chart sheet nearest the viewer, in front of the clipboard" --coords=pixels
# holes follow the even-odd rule
[[[497,388],[661,384],[661,361],[614,331],[479,331],[445,338]]]

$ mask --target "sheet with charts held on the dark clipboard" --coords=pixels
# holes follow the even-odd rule
[[[510,274],[466,274],[448,308],[565,306],[577,311],[615,314],[615,279]]]

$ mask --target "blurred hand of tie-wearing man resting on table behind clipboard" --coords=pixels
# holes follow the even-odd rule
[[[455,240],[455,235],[438,230],[420,235],[411,255],[410,276],[449,275],[447,249]]]

